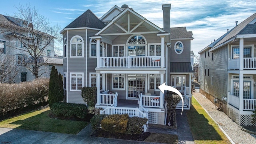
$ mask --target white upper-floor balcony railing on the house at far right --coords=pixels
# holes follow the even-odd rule
[[[240,69],[240,58],[229,60],[229,69]],[[256,58],[244,58],[243,69],[253,70],[256,69]]]

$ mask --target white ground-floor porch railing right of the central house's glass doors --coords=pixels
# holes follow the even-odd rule
[[[160,108],[160,96],[146,96],[141,94],[140,104],[143,107]]]

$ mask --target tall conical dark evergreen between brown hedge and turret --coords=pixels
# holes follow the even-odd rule
[[[55,66],[52,66],[49,83],[49,106],[51,107],[54,102],[63,101],[63,83],[62,76],[58,74],[58,70]]]

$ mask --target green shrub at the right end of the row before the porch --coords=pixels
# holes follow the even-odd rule
[[[147,118],[139,118],[139,117],[131,117],[128,120],[127,124],[127,134],[141,134],[142,133],[142,126],[146,124],[148,121]]]

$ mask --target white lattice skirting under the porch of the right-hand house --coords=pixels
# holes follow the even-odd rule
[[[228,116],[234,120],[240,126],[255,126],[256,124],[251,123],[252,116],[251,115],[244,115],[238,114],[231,108],[228,108]]]

